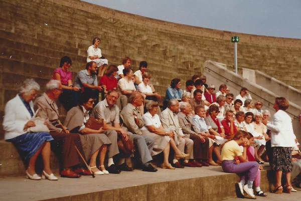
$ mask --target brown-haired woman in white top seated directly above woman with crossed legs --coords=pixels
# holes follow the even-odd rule
[[[140,91],[143,94],[145,98],[145,104],[147,104],[149,100],[158,101],[158,99],[161,98],[159,92],[156,93],[153,92],[152,88],[148,84],[149,79],[150,79],[150,73],[144,72],[142,75],[142,82],[138,85],[138,91]],[[157,114],[160,115],[160,113],[161,113],[161,109],[158,109]]]

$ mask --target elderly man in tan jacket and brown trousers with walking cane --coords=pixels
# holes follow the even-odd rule
[[[82,175],[90,175],[91,173],[80,167],[84,162],[78,155],[75,146],[84,156],[81,145],[81,138],[78,133],[66,132],[62,129],[63,124],[59,120],[59,109],[55,100],[57,100],[62,93],[62,84],[59,80],[52,79],[46,84],[46,92],[38,97],[34,102],[35,110],[40,108],[37,116],[46,119],[47,127],[50,130],[51,136],[54,140],[51,141],[51,148],[58,147],[54,150],[61,162],[61,177],[80,177]],[[65,128],[65,127],[64,127]]]

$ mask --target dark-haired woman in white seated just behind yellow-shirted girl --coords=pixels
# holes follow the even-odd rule
[[[254,130],[254,124],[252,124],[252,120],[254,118],[253,112],[247,112],[245,114],[245,121],[244,121],[244,130],[247,132],[250,132],[254,136],[254,141],[256,142],[256,145],[264,145],[265,146],[265,139],[263,137],[262,133],[256,132]],[[263,164],[264,161],[258,156],[257,154],[257,148],[254,146],[255,149],[255,159],[259,164]]]

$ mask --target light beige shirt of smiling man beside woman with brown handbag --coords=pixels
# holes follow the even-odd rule
[[[119,124],[119,108],[114,104],[109,108],[106,99],[98,102],[94,107],[94,113],[97,118],[105,120],[106,124],[114,126],[114,123]]]

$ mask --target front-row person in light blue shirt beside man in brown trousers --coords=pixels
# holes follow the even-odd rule
[[[211,135],[209,133],[209,129],[207,127],[205,117],[206,117],[206,112],[204,106],[196,106],[195,107],[195,115],[192,117],[192,122],[194,123],[194,127],[197,133],[200,133],[202,136],[206,137],[209,139],[209,151],[208,151],[208,160],[207,162],[210,165],[218,165],[214,160],[212,159],[212,152],[214,151],[216,157],[217,157],[217,162],[220,164],[221,161],[221,154],[220,154],[220,148],[218,147],[217,142],[214,140],[215,136]]]

